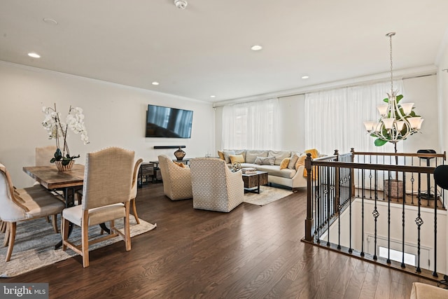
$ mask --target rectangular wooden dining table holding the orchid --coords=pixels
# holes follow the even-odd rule
[[[78,190],[83,189],[84,170],[85,167],[81,164],[74,164],[71,170],[66,172],[59,171],[56,165],[23,167],[26,174],[49,191],[62,190],[66,208],[75,205],[75,194]],[[110,233],[105,223],[101,223],[100,227],[105,232]],[[70,223],[69,234],[72,229],[73,225]],[[55,245],[55,249],[59,249],[60,246],[62,246],[62,240]]]

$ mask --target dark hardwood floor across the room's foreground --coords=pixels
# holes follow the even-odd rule
[[[0,282],[48,282],[50,298],[409,298],[421,279],[301,242],[306,190],[230,213],[139,189],[140,218],[158,227]]]

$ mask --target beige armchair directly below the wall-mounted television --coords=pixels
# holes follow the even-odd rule
[[[167,155],[159,155],[158,158],[165,195],[171,200],[193,198],[190,169],[174,164]]]

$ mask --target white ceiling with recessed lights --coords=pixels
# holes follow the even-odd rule
[[[395,70],[433,66],[447,12],[447,0],[1,0],[0,60],[219,102],[387,72],[388,32]]]

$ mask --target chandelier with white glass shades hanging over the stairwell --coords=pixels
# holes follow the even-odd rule
[[[391,142],[395,146],[398,141],[404,140],[409,135],[419,132],[423,118],[414,112],[414,103],[400,103],[402,95],[397,95],[397,90],[393,90],[393,67],[392,67],[392,36],[395,32],[386,34],[390,40],[391,55],[391,93],[387,93],[386,104],[377,106],[381,118],[377,122],[365,121],[365,130],[372,137],[377,137],[375,146],[382,146]]]

